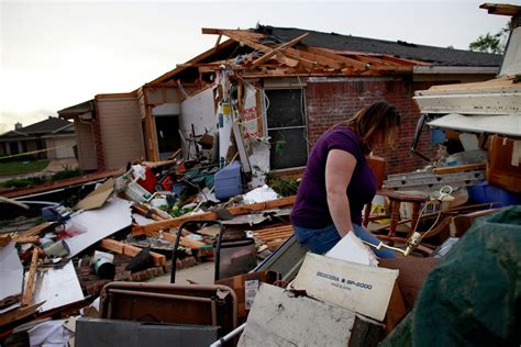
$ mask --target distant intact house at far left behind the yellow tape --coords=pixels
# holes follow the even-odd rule
[[[35,152],[38,158],[74,158],[74,123],[54,116],[27,126],[16,123],[13,131],[0,135],[0,154]]]

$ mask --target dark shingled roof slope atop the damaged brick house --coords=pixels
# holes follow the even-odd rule
[[[501,64],[501,55],[470,52],[463,49],[442,48],[407,42],[391,42],[376,38],[321,33],[295,27],[259,26],[257,32],[288,42],[304,33],[309,33],[301,43],[308,46],[392,55],[404,59],[422,60],[440,66],[496,66]]]

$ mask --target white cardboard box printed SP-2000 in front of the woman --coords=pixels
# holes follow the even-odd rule
[[[384,321],[397,270],[308,253],[292,287],[309,296]]]

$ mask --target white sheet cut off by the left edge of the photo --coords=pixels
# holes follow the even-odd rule
[[[0,300],[22,293],[23,267],[14,242],[0,248]]]

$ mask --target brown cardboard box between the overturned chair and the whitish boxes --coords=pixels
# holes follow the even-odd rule
[[[233,289],[237,296],[237,317],[239,320],[242,320],[247,316],[260,283],[273,284],[278,280],[278,278],[279,276],[277,272],[258,271],[223,278],[215,281],[215,284],[222,284]]]

